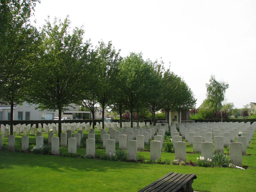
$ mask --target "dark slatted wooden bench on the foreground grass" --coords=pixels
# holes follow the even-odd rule
[[[192,188],[192,183],[196,178],[196,174],[180,174],[170,172],[149,184],[148,186],[144,187],[143,189],[139,190],[138,192],[193,192],[194,190]]]

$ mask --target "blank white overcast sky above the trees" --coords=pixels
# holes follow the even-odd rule
[[[255,0],[41,0],[36,26],[50,16],[85,30],[93,45],[112,41],[121,56],[142,52],[184,78],[197,99],[206,98],[210,76],[228,82],[228,102],[256,102]]]

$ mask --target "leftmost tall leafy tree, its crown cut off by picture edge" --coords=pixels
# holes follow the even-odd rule
[[[13,107],[27,95],[28,80],[40,44],[40,34],[29,23],[37,0],[1,0],[0,4],[0,99],[11,106],[10,134],[13,134]]]

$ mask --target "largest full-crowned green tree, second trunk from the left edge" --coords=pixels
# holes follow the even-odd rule
[[[40,63],[35,66],[30,87],[30,99],[40,109],[58,110],[59,137],[61,114],[70,104],[82,100],[85,66],[82,58],[88,45],[83,44],[82,29],[75,28],[70,34],[68,17],[64,22],[54,19],[44,25]]]

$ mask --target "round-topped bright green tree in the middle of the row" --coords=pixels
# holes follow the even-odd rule
[[[120,72],[125,81],[122,82],[122,98],[130,112],[131,126],[133,125],[134,109],[140,104],[141,99],[147,96],[151,70],[142,54],[130,53],[120,64]]]

